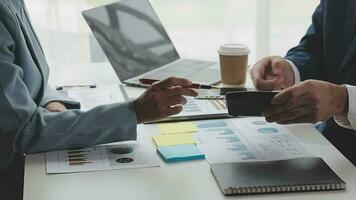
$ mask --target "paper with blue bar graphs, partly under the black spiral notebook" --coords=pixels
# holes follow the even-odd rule
[[[197,121],[197,145],[209,163],[266,161],[309,155],[284,126],[262,117]]]

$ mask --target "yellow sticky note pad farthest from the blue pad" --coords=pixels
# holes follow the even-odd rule
[[[177,122],[158,125],[162,134],[193,133],[199,129],[193,122]]]

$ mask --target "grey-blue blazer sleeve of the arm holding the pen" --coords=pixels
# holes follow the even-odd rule
[[[3,18],[4,19],[4,18]],[[32,99],[16,65],[16,30],[0,21],[0,160],[11,153],[33,153],[136,139],[132,102],[87,112],[51,113]],[[11,21],[12,20],[12,21]],[[1,167],[0,163],[0,167]]]

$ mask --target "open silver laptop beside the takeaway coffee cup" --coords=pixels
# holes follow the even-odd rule
[[[217,63],[180,58],[148,0],[121,0],[83,11],[83,16],[123,83],[144,86],[139,79],[172,76],[220,82]]]

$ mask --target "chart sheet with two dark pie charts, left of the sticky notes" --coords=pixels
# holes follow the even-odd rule
[[[137,141],[46,153],[48,174],[158,167],[157,155],[142,126]]]

